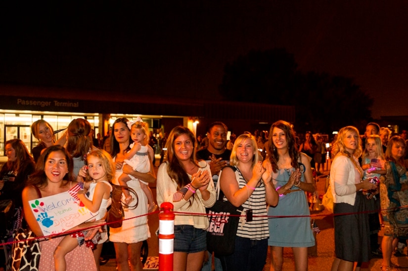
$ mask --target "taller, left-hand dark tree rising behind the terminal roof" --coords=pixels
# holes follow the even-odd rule
[[[290,105],[297,64],[285,49],[250,51],[225,67],[220,94],[226,100]]]

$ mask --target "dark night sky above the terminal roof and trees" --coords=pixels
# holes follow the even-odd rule
[[[227,62],[285,47],[408,115],[407,1],[151,2],[1,6],[0,83],[218,98]]]

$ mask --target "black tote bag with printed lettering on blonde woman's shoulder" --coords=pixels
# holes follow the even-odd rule
[[[230,168],[236,171],[235,167]],[[207,229],[207,250],[214,252],[217,257],[234,253],[239,216],[244,209],[242,206],[235,207],[229,201],[224,201],[224,193],[219,187],[220,178],[217,183],[217,190],[219,191],[217,201],[213,207],[207,209],[207,216],[210,221],[210,226]]]

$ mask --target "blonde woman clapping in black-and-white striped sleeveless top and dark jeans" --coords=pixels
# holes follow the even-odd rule
[[[232,148],[230,166],[220,173],[224,200],[243,206],[232,255],[221,257],[224,271],[262,271],[268,251],[267,204],[276,206],[279,195],[271,182],[272,166],[258,161],[257,143],[250,134],[242,134]],[[236,174],[238,173],[238,174]]]

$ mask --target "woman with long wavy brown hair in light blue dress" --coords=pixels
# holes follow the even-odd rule
[[[279,194],[279,203],[276,207],[270,206],[268,211],[268,216],[277,216],[269,219],[271,270],[282,269],[283,247],[291,247],[295,270],[307,271],[308,247],[315,245],[305,195],[305,191],[314,193],[316,190],[310,160],[296,149],[295,133],[286,121],[272,124],[269,140],[269,159],[264,163],[272,165],[272,182]]]

